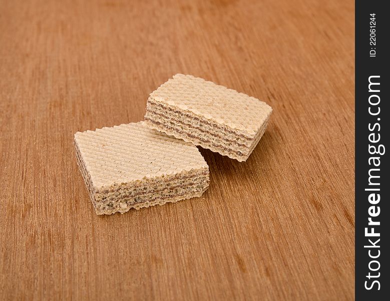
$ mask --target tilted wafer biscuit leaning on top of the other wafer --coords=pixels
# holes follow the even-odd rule
[[[169,135],[246,161],[271,112],[272,108],[257,98],[176,74],[150,94],[145,121]]]

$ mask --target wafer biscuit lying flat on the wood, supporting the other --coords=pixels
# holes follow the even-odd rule
[[[200,197],[209,185],[196,146],[143,121],[77,132],[74,142],[97,214]]]

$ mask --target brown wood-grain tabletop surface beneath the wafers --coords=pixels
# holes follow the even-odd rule
[[[0,299],[354,296],[353,1],[0,0]],[[78,130],[175,73],[274,111],[202,198],[97,216]]]

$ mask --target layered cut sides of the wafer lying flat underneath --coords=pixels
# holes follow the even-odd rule
[[[77,164],[98,215],[124,213],[132,208],[140,209],[200,197],[209,186],[209,170],[208,167],[203,167],[175,175],[143,178],[97,188],[92,183],[76,140],[74,144]]]

